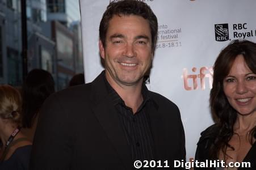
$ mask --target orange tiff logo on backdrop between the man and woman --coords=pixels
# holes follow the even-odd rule
[[[196,73],[196,67],[192,68],[192,72]],[[184,82],[184,89],[187,91],[190,90],[198,90],[198,80],[200,80],[200,87],[201,90],[205,90],[205,78],[208,78],[209,88],[212,88],[212,76],[213,76],[213,69],[212,67],[202,67],[199,70],[199,74],[188,74],[187,69],[183,69],[183,82]],[[192,80],[192,86],[190,86]]]

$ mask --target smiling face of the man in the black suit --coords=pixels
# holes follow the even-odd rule
[[[115,15],[108,25],[106,45],[99,42],[108,82],[119,86],[141,83],[152,63],[151,45],[152,37],[146,19],[137,15]]]

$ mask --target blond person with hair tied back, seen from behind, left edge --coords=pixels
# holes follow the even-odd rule
[[[20,94],[15,88],[0,86],[1,170],[28,169],[32,143],[20,131],[21,104]]]

